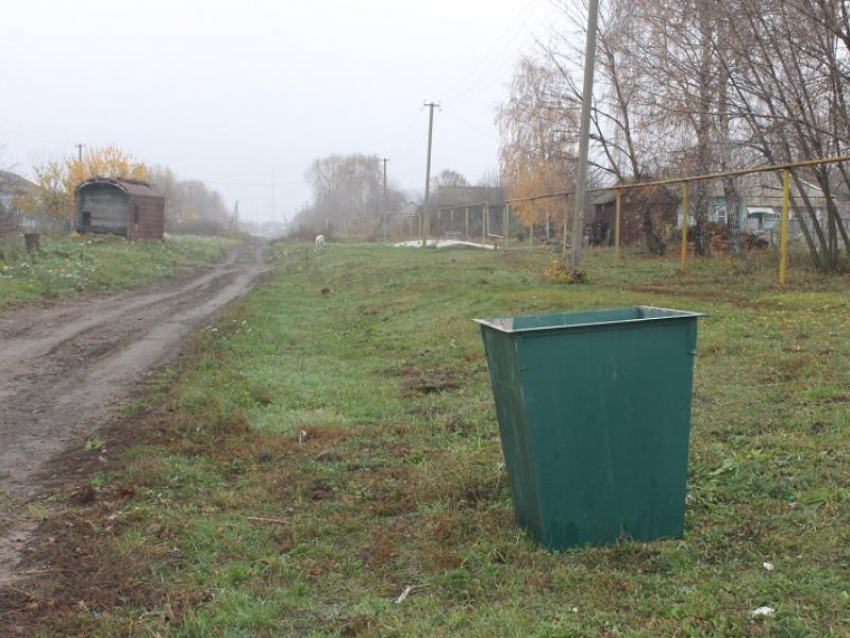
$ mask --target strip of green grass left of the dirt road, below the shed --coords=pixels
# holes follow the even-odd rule
[[[0,239],[0,308],[144,285],[211,261],[235,244],[227,238],[180,235],[163,242],[45,236],[41,251],[31,257],[21,238]]]

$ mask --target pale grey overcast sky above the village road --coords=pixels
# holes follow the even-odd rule
[[[116,144],[201,179],[243,218],[309,199],[330,153],[376,153],[403,188],[496,166],[494,108],[557,11],[549,0],[27,0],[0,19],[4,164]],[[296,182],[296,183],[292,183]]]

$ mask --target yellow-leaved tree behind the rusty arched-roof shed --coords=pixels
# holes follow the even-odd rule
[[[23,197],[20,206],[71,227],[74,217],[74,191],[92,177],[145,180],[148,167],[117,146],[86,149],[82,158],[65,157],[34,168],[36,187]]]

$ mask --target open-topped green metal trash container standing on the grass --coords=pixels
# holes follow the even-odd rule
[[[551,549],[684,533],[699,313],[477,320],[519,525]]]

